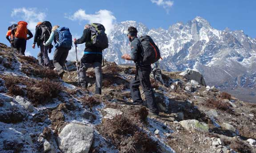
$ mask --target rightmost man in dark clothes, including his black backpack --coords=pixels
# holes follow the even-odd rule
[[[131,82],[131,97],[134,105],[143,105],[143,100],[139,91],[139,86],[142,86],[146,97],[149,111],[149,116],[158,118],[159,110],[155,100],[155,94],[151,87],[150,73],[151,64],[157,62],[160,58],[160,51],[149,36],[137,37],[137,29],[133,26],[128,28],[127,37],[131,42],[131,55],[125,54],[122,56],[125,60],[134,61],[136,64],[135,79]]]

